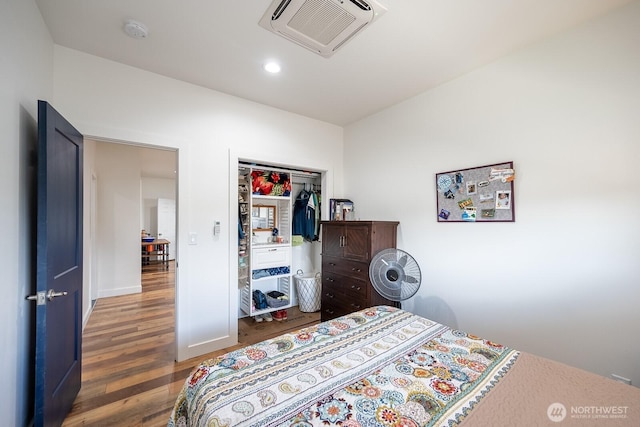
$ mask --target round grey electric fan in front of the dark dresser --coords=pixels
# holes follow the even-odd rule
[[[401,249],[383,249],[369,264],[373,288],[384,298],[399,302],[411,298],[420,289],[420,266]]]

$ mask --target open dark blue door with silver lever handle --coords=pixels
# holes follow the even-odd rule
[[[38,101],[35,426],[59,426],[81,384],[82,135]]]

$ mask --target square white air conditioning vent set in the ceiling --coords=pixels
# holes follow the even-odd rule
[[[260,25],[329,57],[386,10],[373,0],[274,0]]]

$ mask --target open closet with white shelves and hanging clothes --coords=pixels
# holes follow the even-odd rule
[[[321,178],[317,172],[239,164],[239,317],[259,316],[296,305],[295,274],[320,271],[317,232]],[[304,199],[304,206],[298,200],[300,195],[309,196]],[[313,221],[301,225],[303,218],[311,217]],[[254,291],[266,296],[268,306],[256,304]]]

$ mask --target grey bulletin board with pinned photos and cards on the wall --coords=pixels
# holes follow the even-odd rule
[[[513,162],[436,174],[438,222],[513,222]]]

